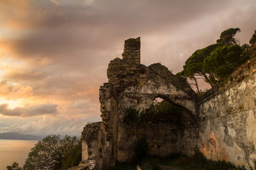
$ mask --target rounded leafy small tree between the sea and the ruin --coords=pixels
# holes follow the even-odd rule
[[[65,157],[78,146],[77,137],[48,135],[40,140],[28,154],[24,169],[60,169]]]

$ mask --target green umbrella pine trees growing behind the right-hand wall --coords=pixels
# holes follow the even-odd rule
[[[250,39],[251,45],[240,46],[235,38],[239,32],[240,28],[224,30],[215,44],[193,52],[183,65],[183,70],[176,75],[191,79],[198,94],[198,79],[204,79],[210,86],[225,81],[236,68],[255,56],[256,30]]]

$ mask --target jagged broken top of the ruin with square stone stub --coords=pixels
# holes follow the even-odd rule
[[[107,69],[107,77],[109,83],[112,84],[114,88],[122,91],[122,89],[125,89],[127,86],[144,86],[149,79],[161,86],[163,82],[159,82],[159,79],[156,78],[161,77],[161,79],[164,79],[165,84],[174,84],[176,88],[183,90],[189,96],[196,96],[196,93],[191,89],[186,79],[176,77],[167,67],[159,63],[151,64],[149,67],[141,64],[140,47],[140,38],[125,40],[122,59],[117,57],[110,61]]]

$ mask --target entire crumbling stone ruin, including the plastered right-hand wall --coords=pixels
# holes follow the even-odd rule
[[[102,122],[86,125],[82,132],[82,162],[88,169],[107,169],[127,162],[134,144],[146,135],[149,154],[193,154],[198,147],[210,159],[225,159],[248,166],[256,159],[255,59],[249,60],[225,84],[200,98],[185,79],[157,63],[140,63],[140,38],[124,42],[122,59],[112,60],[108,83],[100,86]],[[124,111],[144,111],[156,98],[181,106],[172,122],[125,125]]]

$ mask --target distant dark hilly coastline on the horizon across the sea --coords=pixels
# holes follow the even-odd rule
[[[43,137],[35,135],[23,135],[17,132],[0,133],[0,140],[42,140]]]

